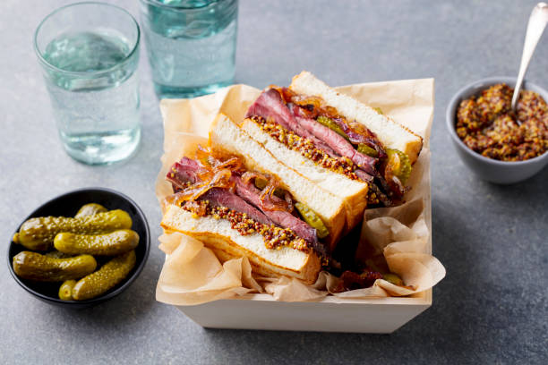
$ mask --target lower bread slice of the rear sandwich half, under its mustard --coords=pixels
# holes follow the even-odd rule
[[[262,131],[261,127],[251,119],[245,119],[241,127],[253,140],[261,143],[286,166],[306,176],[321,189],[342,199],[346,207],[347,231],[363,220],[364,209],[367,206],[367,183],[353,180],[345,174],[339,174],[316,165],[313,160],[304,157],[297,151],[288,149],[283,143],[271,137],[269,133]]]

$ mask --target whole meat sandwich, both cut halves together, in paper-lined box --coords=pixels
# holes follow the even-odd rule
[[[365,208],[403,201],[422,149],[415,133],[310,72],[265,89],[237,122],[218,115],[208,145],[174,161],[161,225],[222,261],[247,257],[255,274],[305,284]]]

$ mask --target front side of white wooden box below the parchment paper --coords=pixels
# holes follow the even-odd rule
[[[390,334],[432,305],[432,289],[406,298],[275,301],[269,294],[177,306],[202,327]]]

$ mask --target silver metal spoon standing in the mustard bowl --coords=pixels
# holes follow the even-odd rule
[[[523,83],[523,77],[527,72],[529,61],[535,53],[535,47],[538,40],[541,38],[548,23],[548,4],[538,3],[533,8],[529,22],[527,24],[526,40],[523,45],[523,53],[521,54],[521,64],[519,65],[518,81],[516,81],[516,87],[514,88],[514,95],[512,95],[512,109],[516,111],[518,105],[519,90]],[[521,124],[517,121],[518,124]]]

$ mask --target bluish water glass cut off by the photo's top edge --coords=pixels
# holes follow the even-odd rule
[[[234,81],[237,0],[141,0],[158,98],[193,98]]]

